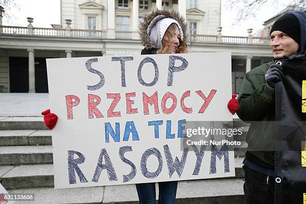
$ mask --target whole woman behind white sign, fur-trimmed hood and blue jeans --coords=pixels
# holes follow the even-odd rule
[[[144,46],[141,54],[187,52],[187,24],[174,9],[164,7],[143,16],[139,36]],[[158,182],[158,203],[174,203],[177,181]],[[155,203],[155,183],[137,183],[139,203]]]

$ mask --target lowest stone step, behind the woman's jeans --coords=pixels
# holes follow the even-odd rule
[[[176,202],[181,203],[244,203],[243,179],[222,178],[178,181]],[[78,188],[23,188],[9,193],[34,193],[34,201],[16,203],[138,203],[134,184]],[[158,187],[156,184],[156,199]]]

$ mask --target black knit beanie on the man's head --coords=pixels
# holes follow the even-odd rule
[[[294,41],[296,41],[299,44],[300,26],[299,26],[299,22],[297,18],[294,15],[291,15],[291,14],[282,15],[272,25],[270,34],[274,30],[279,30],[279,31],[282,31],[288,34],[292,39],[294,39]]]

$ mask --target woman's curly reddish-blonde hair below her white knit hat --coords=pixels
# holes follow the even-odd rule
[[[166,29],[161,43],[162,47],[157,50],[157,54],[168,54],[172,48],[171,37],[174,36],[175,29],[178,29],[178,26],[175,23],[172,23]],[[179,45],[176,49],[175,53],[186,53],[187,52],[187,44],[179,38]]]

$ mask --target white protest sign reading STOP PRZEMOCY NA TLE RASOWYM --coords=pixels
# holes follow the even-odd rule
[[[186,121],[230,121],[230,53],[47,59],[55,188],[234,176],[226,144],[182,147]]]

